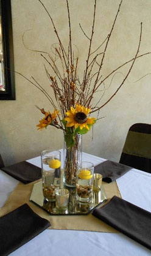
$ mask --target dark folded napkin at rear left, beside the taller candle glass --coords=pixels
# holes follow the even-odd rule
[[[26,161],[1,168],[1,170],[24,184],[41,178],[41,168]]]

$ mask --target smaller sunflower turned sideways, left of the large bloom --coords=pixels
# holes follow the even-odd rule
[[[54,109],[52,114],[49,110],[47,112],[43,111],[42,113],[44,113],[44,118],[39,121],[40,124],[37,124],[37,127],[39,127],[37,130],[43,130],[43,128],[49,126],[49,124],[51,124],[51,122],[57,118],[59,111]]]

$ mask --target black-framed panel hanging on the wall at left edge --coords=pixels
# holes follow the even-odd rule
[[[0,0],[0,100],[15,100],[12,12],[10,0]]]

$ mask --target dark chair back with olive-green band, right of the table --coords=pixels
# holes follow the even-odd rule
[[[151,173],[151,124],[130,127],[119,163]]]

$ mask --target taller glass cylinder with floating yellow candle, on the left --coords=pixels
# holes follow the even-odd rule
[[[60,187],[60,167],[60,151],[45,150],[41,152],[43,196],[47,201],[55,201],[55,189]]]

